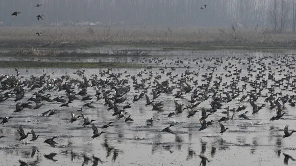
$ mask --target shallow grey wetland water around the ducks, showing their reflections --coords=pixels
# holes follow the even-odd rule
[[[267,88],[275,85],[275,80],[278,81],[282,78],[282,84],[276,84],[275,94],[282,92],[281,95],[286,94],[292,96],[295,94],[294,83],[290,86],[287,82],[293,82],[295,79],[295,64],[292,56],[283,56],[279,54],[288,54],[293,51],[274,51],[272,52],[252,52],[250,50],[225,50],[225,51],[187,51],[178,52],[175,51],[172,56],[164,57],[124,57],[124,58],[62,58],[59,61],[84,61],[84,62],[130,62],[130,63],[141,63],[150,64],[152,66],[160,66],[167,68],[160,70],[159,68],[152,69],[112,69],[109,73],[122,73],[119,80],[127,79],[127,86],[130,85],[131,89],[126,95],[122,96],[127,98],[123,103],[119,103],[119,109],[122,106],[131,104],[131,108],[127,108],[126,112],[131,115],[134,120],[132,123],[126,123],[125,118],[117,120],[117,116],[112,116],[114,113],[113,109],[107,110],[108,106],[105,106],[104,99],[96,101],[94,87],[87,88],[87,94],[92,97],[92,100],[81,101],[82,96],[78,96],[79,99],[69,103],[69,107],[60,107],[60,102],[47,102],[42,101],[45,105],[39,109],[28,109],[24,108],[21,112],[13,113],[15,110],[16,102],[15,96],[8,98],[6,101],[0,103],[1,117],[13,118],[11,121],[0,127],[0,135],[5,135],[0,139],[0,155],[2,156],[1,165],[294,165],[296,161],[289,159],[294,157],[296,159],[296,142],[295,135],[291,135],[283,139],[283,129],[285,125],[289,125],[289,130],[296,130],[295,120],[296,113],[294,107],[289,105],[289,102],[285,103],[283,112],[284,115],[280,120],[269,121],[270,118],[276,116],[275,108],[270,110],[269,102],[264,102],[266,97],[259,96],[255,102],[258,106],[266,104],[265,107],[260,109],[256,114],[252,115],[252,109],[250,102],[247,102],[249,97],[244,102],[239,103],[239,99],[242,95],[246,95],[247,91],[255,90],[251,85],[254,82],[258,83],[258,87],[262,88],[259,82],[262,79],[267,80]],[[245,55],[248,54],[248,55]],[[163,55],[163,53],[161,53]],[[249,60],[248,60],[249,58]],[[252,59],[250,59],[252,58]],[[11,61],[23,61],[29,60],[29,58],[13,58],[13,57],[1,57],[2,60]],[[52,58],[38,58],[41,61],[52,61]],[[57,60],[57,59],[56,59]],[[57,61],[58,61],[57,60]],[[187,68],[188,66],[188,68]],[[213,66],[216,66],[213,68]],[[227,66],[227,68],[225,68]],[[264,66],[266,70],[264,70]],[[182,67],[172,70],[170,67]],[[70,79],[83,80],[81,76],[75,74],[77,69],[19,69],[21,81],[30,79],[31,75],[40,77],[43,74],[50,75],[50,79],[61,78],[66,73]],[[28,72],[26,71],[28,70]],[[43,71],[44,70],[44,71]],[[84,75],[87,79],[91,78],[91,74],[97,74],[98,79],[103,80],[111,79],[109,74],[101,74],[107,69],[79,69],[85,70]],[[185,76],[186,70],[191,73]],[[241,73],[234,75],[235,71],[241,70]],[[252,71],[251,71],[252,70]],[[0,68],[1,73],[8,75],[16,75],[16,71],[13,68]],[[125,73],[125,71],[127,71]],[[142,73],[142,76],[138,76]],[[168,74],[167,74],[168,73]],[[214,81],[219,81],[217,77],[221,76],[220,86],[218,93],[221,96],[226,97],[223,92],[235,91],[235,88],[243,90],[239,93],[239,96],[230,102],[221,102],[223,106],[217,109],[213,115],[210,115],[206,120],[213,120],[213,124],[209,125],[205,130],[199,131],[201,124],[199,118],[201,118],[201,107],[210,109],[209,102],[213,99],[203,101],[199,99],[201,104],[194,108],[199,110],[193,117],[189,119],[187,109],[183,110],[183,113],[167,118],[168,114],[175,111],[174,99],[181,104],[190,104],[190,96],[192,91],[183,95],[184,99],[174,98],[172,95],[180,91],[180,79],[183,77],[186,82],[194,89],[200,89],[198,86],[207,84],[207,80],[203,75],[213,74],[209,85],[212,87]],[[267,79],[268,73],[274,73],[274,80]],[[183,76],[182,76],[183,74]],[[232,74],[232,75],[230,75]],[[257,75],[262,78],[257,78]],[[144,106],[146,104],[145,97],[139,101],[133,101],[133,95],[139,95],[144,90],[134,90],[133,75],[137,78],[138,84],[141,83],[142,79],[146,79],[145,87],[152,85],[152,89],[155,89],[155,77],[158,76],[158,81],[162,82],[169,79],[169,86],[176,86],[172,94],[162,93],[161,96],[156,98],[157,102],[163,103],[163,112],[152,110],[152,106]],[[160,75],[160,76],[159,76]],[[170,77],[176,76],[174,79]],[[187,78],[188,77],[188,78]],[[249,77],[248,81],[242,80],[242,77]],[[4,78],[3,80],[5,80]],[[2,81],[3,81],[2,80]],[[47,80],[47,78],[45,79]],[[194,81],[196,81],[194,85]],[[66,81],[63,79],[62,84]],[[236,82],[236,84],[233,84]],[[253,83],[252,83],[253,82]],[[91,85],[91,83],[89,82]],[[242,87],[245,86],[245,89]],[[279,85],[279,86],[278,86]],[[44,84],[43,86],[46,86]],[[78,89],[79,84],[72,84],[76,93],[80,92]],[[287,88],[285,87],[287,86]],[[120,87],[120,86],[117,86]],[[30,88],[24,87],[27,92],[23,99],[18,102],[27,102],[32,97],[34,92],[38,92],[42,88],[36,88],[30,90]],[[54,88],[55,89],[55,88]],[[65,91],[56,90],[45,91],[45,94],[51,94],[51,99],[57,96],[66,96]],[[102,88],[101,90],[110,90],[109,86]],[[210,88],[209,88],[210,89]],[[13,90],[13,89],[10,89]],[[2,94],[9,92],[10,90],[3,90]],[[101,91],[100,90],[100,91]],[[258,89],[257,89],[258,92]],[[113,94],[114,90],[110,94]],[[207,92],[209,95],[211,92]],[[253,92],[255,93],[255,92]],[[153,94],[151,88],[146,93],[152,100]],[[265,96],[268,94],[268,89],[263,89],[261,95]],[[268,94],[269,96],[270,94]],[[202,95],[200,95],[201,97]],[[112,96],[110,96],[112,97]],[[67,99],[67,97],[66,97]],[[83,107],[82,112],[78,112],[84,104],[87,102],[94,101],[92,104],[95,108]],[[196,103],[196,102],[195,102]],[[280,103],[282,103],[280,101]],[[32,104],[35,106],[35,103]],[[221,117],[227,117],[226,114],[221,112],[226,111],[226,107],[230,109],[237,109],[238,106],[245,105],[245,110],[238,113],[235,112],[233,120],[223,122],[225,127],[229,129],[220,135],[220,126],[217,122]],[[51,117],[44,117],[42,113],[49,109],[57,109],[58,113]],[[248,110],[250,113],[247,116],[251,120],[244,120],[238,118],[239,114],[242,114]],[[71,114],[77,115],[83,113],[90,120],[94,119],[93,124],[98,128],[98,131],[105,131],[100,137],[91,139],[93,135],[90,126],[85,128],[82,126],[84,123],[83,119],[69,123]],[[230,112],[229,117],[231,118],[233,112]],[[127,116],[126,116],[127,118]],[[146,123],[147,119],[153,118],[153,125]],[[100,127],[107,124],[108,122],[114,122],[113,127],[101,129]],[[161,132],[162,129],[168,127],[170,124],[174,124],[171,130],[175,131],[176,134]],[[29,135],[28,139],[24,141],[18,141],[19,134],[17,128],[19,125],[23,125],[24,131],[27,133],[34,129],[36,135],[40,135],[39,138],[34,142],[34,146],[31,140],[32,135]],[[50,147],[50,145],[43,143],[44,140],[49,139],[53,136],[57,136],[58,142],[57,147]],[[27,144],[30,143],[30,144]],[[203,159],[200,157],[207,157]],[[93,158],[97,157],[97,158]],[[286,157],[286,158],[285,158]],[[288,160],[287,160],[288,158]],[[284,160],[285,159],[285,160]]]

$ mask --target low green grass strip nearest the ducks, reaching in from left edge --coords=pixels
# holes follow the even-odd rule
[[[0,61],[0,68],[145,68],[146,65],[109,62]]]

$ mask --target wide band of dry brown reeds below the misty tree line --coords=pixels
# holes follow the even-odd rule
[[[35,35],[42,32],[42,36]],[[296,34],[268,27],[188,27],[125,29],[98,27],[0,27],[0,47],[88,47],[129,45],[294,46]]]

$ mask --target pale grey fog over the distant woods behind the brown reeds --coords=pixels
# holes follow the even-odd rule
[[[56,22],[179,27],[239,22],[263,26],[270,24],[267,13],[273,1],[277,0],[0,0],[0,21],[18,26],[59,24]],[[286,2],[292,6],[292,1]],[[292,8],[285,10],[292,20]],[[11,18],[15,11],[21,14]],[[43,20],[37,20],[39,14],[44,14]]]

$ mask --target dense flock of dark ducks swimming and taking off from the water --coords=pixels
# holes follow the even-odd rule
[[[77,74],[82,79],[71,78],[71,76],[66,73],[57,78],[51,78],[51,76],[47,74],[41,76],[31,75],[30,79],[26,78],[23,80],[20,71],[15,69],[15,75],[1,74],[0,76],[0,90],[3,92],[0,94],[0,102],[5,102],[6,100],[14,100],[17,102],[16,109],[13,111],[14,115],[30,109],[39,109],[44,105],[44,102],[61,103],[59,107],[69,107],[69,104],[75,100],[87,102],[95,99],[96,101],[87,102],[83,107],[78,109],[78,116],[75,115],[76,113],[71,113],[71,117],[69,117],[69,123],[76,123],[82,118],[84,121],[83,126],[85,127],[89,125],[93,130],[93,135],[90,136],[90,138],[95,139],[104,133],[108,134],[108,132],[99,132],[97,127],[93,124],[95,120],[89,120],[89,118],[83,114],[83,109],[95,108],[92,105],[93,103],[96,103],[99,100],[103,101],[104,105],[107,106],[106,109],[108,111],[113,110],[112,116],[114,117],[114,122],[109,122],[100,127],[100,129],[106,129],[114,126],[114,123],[118,122],[120,119],[125,119],[124,121],[126,123],[132,123],[134,121],[132,115],[126,112],[127,109],[131,108],[131,103],[129,102],[136,104],[139,100],[145,98],[145,106],[151,106],[152,110],[162,113],[164,112],[164,107],[162,101],[157,101],[158,97],[161,95],[167,97],[171,96],[174,98],[175,111],[170,112],[167,115],[168,119],[172,116],[178,117],[185,109],[188,110],[187,118],[192,118],[201,110],[201,118],[200,116],[197,117],[201,124],[198,130],[202,131],[210,126],[214,127],[215,123],[213,120],[208,120],[209,117],[213,114],[224,114],[225,116],[221,116],[217,121],[220,126],[219,133],[223,134],[228,130],[228,127],[225,127],[223,122],[237,121],[239,119],[251,120],[251,118],[247,116],[249,111],[236,115],[247,107],[252,108],[252,115],[260,114],[260,110],[266,107],[267,103],[269,103],[269,109],[274,109],[276,111],[275,116],[271,117],[270,121],[275,121],[280,120],[285,114],[287,114],[284,112],[284,110],[287,109],[285,106],[286,103],[292,107],[295,106],[295,95],[290,96],[288,94],[283,94],[285,91],[289,92],[296,90],[296,78],[293,75],[293,72],[295,72],[295,67],[293,66],[295,58],[289,57],[291,59],[288,59],[278,56],[275,61],[271,61],[267,64],[265,63],[265,60],[268,58],[270,57],[259,59],[249,57],[246,58],[246,62],[242,62],[241,58],[238,57],[228,57],[226,60],[213,57],[193,58],[192,60],[185,58],[185,60],[188,61],[188,64],[195,63],[196,66],[198,66],[198,70],[205,68],[203,62],[212,62],[214,66],[207,66],[206,70],[208,72],[205,74],[187,69],[185,73],[172,75],[172,71],[176,71],[176,67],[167,67],[167,65],[181,66],[183,64],[183,61],[181,60],[166,63],[165,67],[159,68],[160,73],[152,72],[152,66],[143,69],[136,75],[128,74],[127,71],[113,73],[111,68],[104,70],[99,74],[91,74],[90,78],[85,76],[85,70],[77,70],[73,73]],[[157,65],[160,65],[163,61],[168,61],[168,59],[170,58],[152,58],[144,59],[144,61],[149,63],[155,62]],[[228,62],[228,65],[221,66],[222,64],[225,64],[224,61]],[[237,61],[237,64],[248,66],[246,69],[248,71],[248,76],[241,76],[242,69],[238,69],[236,64],[230,63],[229,61]],[[271,66],[281,65],[281,63],[285,63],[288,71],[286,71],[286,69],[281,69],[280,66],[277,70],[280,72],[286,71],[287,74],[280,77],[282,74],[279,72],[277,73],[279,77],[276,78],[276,72],[272,70]],[[254,66],[257,66],[257,68],[254,68]],[[188,68],[189,66],[184,65],[184,67]],[[215,74],[218,68],[223,68],[223,70],[229,74]],[[266,72],[268,75],[266,75]],[[254,73],[256,73],[255,80],[252,80],[251,77]],[[126,78],[121,79],[124,74]],[[146,77],[143,77],[144,75]],[[199,76],[201,76],[202,79],[195,79],[195,77]],[[165,80],[159,81],[163,79],[163,77]],[[231,81],[226,81],[226,79]],[[132,87],[130,84],[132,84]],[[246,90],[247,86],[251,88],[250,91]],[[94,96],[88,94],[88,91],[91,88],[95,89]],[[276,92],[276,88],[281,91]],[[129,93],[132,93],[131,89],[133,89],[133,93],[138,92],[138,94],[134,94],[132,99],[126,98]],[[264,91],[266,92],[265,94],[263,94]],[[52,95],[50,92],[64,92],[64,95],[51,98]],[[28,101],[19,102],[24,100],[23,98],[28,93],[33,93]],[[183,104],[178,103],[176,99],[178,98],[184,101],[186,100],[185,95],[187,94],[190,94],[188,104],[185,104],[184,102],[182,102]],[[266,104],[257,105],[256,101],[258,98],[263,98]],[[237,108],[230,108],[230,106],[227,106],[225,107],[225,109],[227,109],[226,111],[220,111],[223,109],[223,105],[227,105],[230,102],[236,102],[239,106]],[[33,103],[35,103],[35,105],[32,105]],[[200,107],[199,110],[198,106],[201,103],[209,103],[210,108]],[[250,106],[242,105],[241,103],[249,103]],[[42,113],[42,116],[51,118],[59,113],[60,110],[58,109],[49,109]],[[230,115],[231,113],[232,115]],[[14,119],[13,115],[2,118],[3,120],[1,124],[5,126],[6,123],[9,123]],[[238,119],[235,119],[235,117],[238,117]],[[153,126],[155,119],[147,119],[146,123],[147,125]],[[171,129],[172,126],[174,126],[174,124],[170,124],[161,131],[177,134],[178,132]],[[283,131],[283,138],[289,137],[295,132],[294,130],[289,132],[288,125],[284,127]],[[20,125],[17,132],[20,135],[19,141],[27,139],[29,134],[32,134],[32,139],[30,141],[32,141],[33,144],[38,141],[39,135],[36,136],[33,129],[26,134],[23,126]],[[0,139],[3,137],[6,137],[6,135],[0,136]],[[51,147],[56,147],[58,144],[54,141],[56,138],[57,137],[55,136],[46,139],[43,143],[48,144]],[[202,158],[201,163],[205,165],[208,159],[202,155],[200,157]]]

